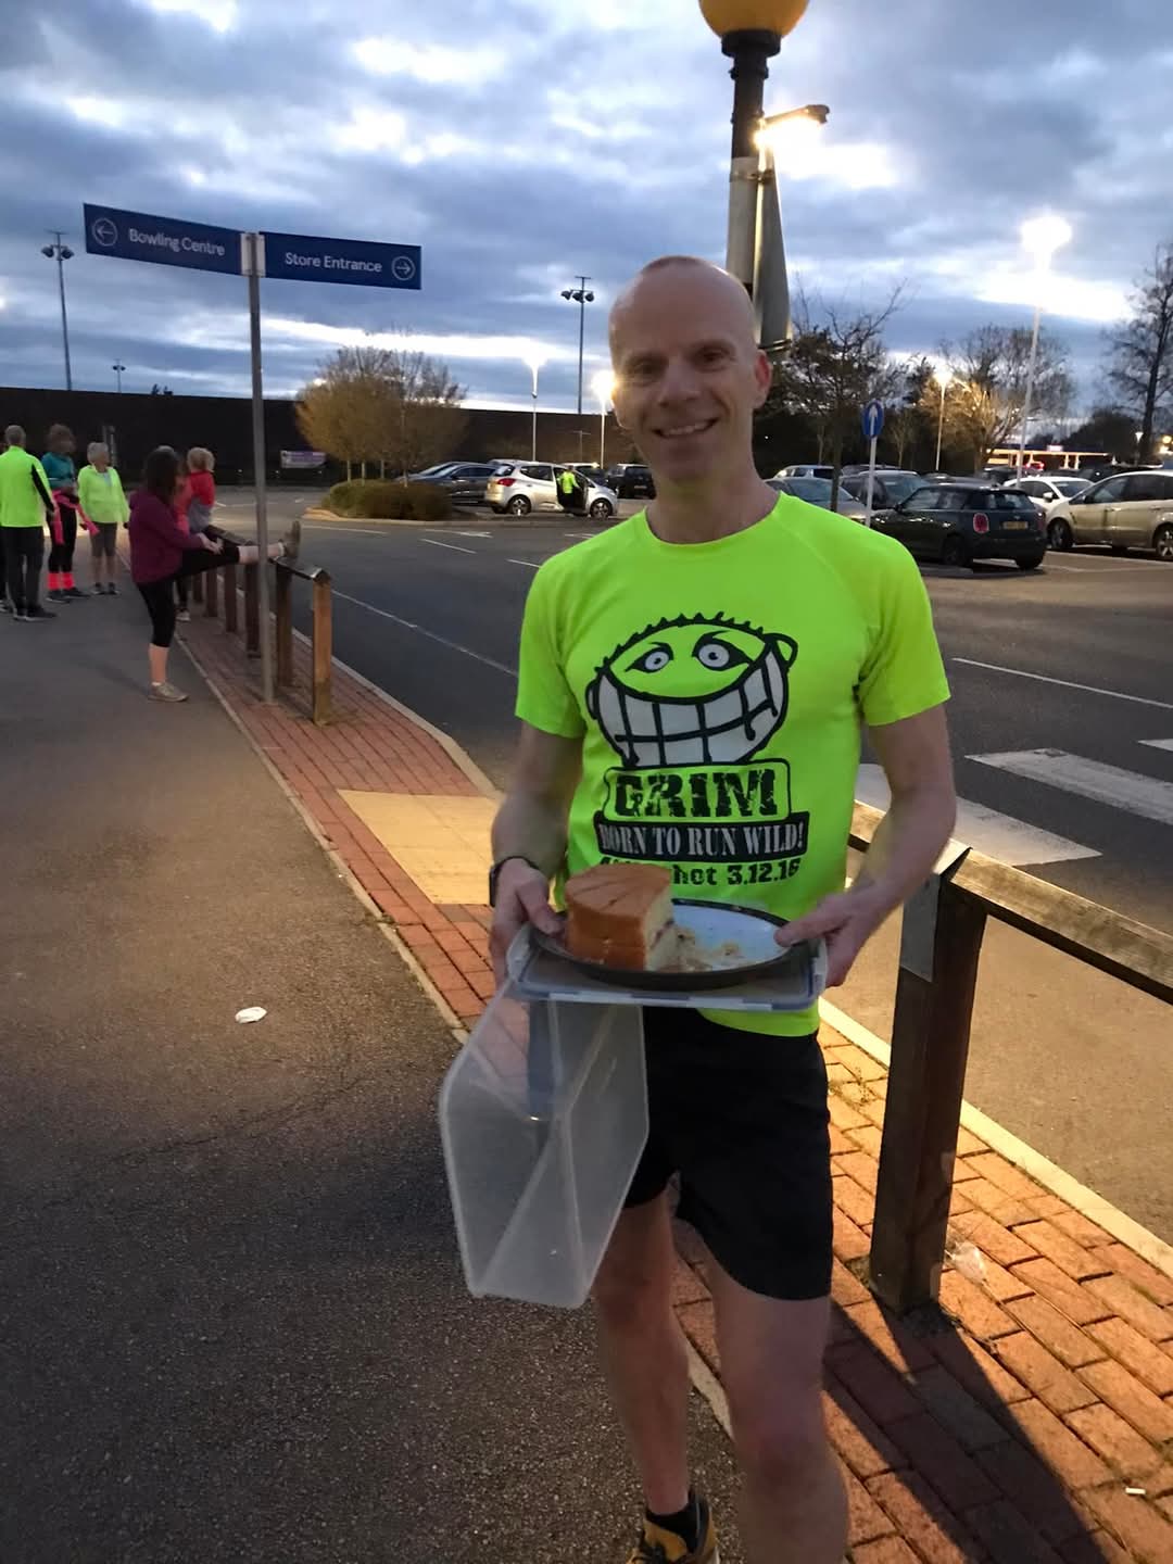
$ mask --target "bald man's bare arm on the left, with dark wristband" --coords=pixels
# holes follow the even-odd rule
[[[505,971],[505,951],[524,923],[535,923],[547,932],[558,927],[549,906],[549,882],[566,857],[571,799],[580,774],[580,738],[543,734],[522,723],[508,791],[493,821],[493,860],[508,860],[497,877],[497,906],[493,910],[491,949],[497,982]]]

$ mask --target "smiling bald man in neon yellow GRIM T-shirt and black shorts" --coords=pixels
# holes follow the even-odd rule
[[[521,637],[521,741],[493,830],[493,949],[557,929],[551,881],[663,863],[674,896],[826,938],[829,984],[932,873],[954,821],[948,687],[912,557],[757,475],[769,363],[744,289],[690,256],[612,313],[615,405],[655,479],[630,521],[549,560]],[[845,891],[866,724],[891,807]],[[818,1013],[643,1012],[651,1131],[594,1286],[643,1483],[629,1564],[713,1564],[688,1476],[688,1359],[668,1184],[712,1254],[751,1564],[840,1564],[846,1506],[820,1384],[830,1290]],[[590,1551],[585,1545],[583,1551]]]

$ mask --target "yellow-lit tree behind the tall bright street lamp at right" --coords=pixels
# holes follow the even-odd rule
[[[974,471],[990,452],[1018,435],[1026,411],[1031,364],[1031,332],[982,325],[970,332],[957,350],[946,344],[952,382],[945,404],[945,427],[954,449],[973,455]],[[1043,330],[1034,375],[1031,411],[1046,418],[1070,405],[1071,375],[1067,349]]]

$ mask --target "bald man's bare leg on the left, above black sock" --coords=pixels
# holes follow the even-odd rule
[[[644,1503],[660,1516],[688,1503],[688,1353],[671,1306],[673,1265],[668,1196],[658,1195],[619,1217],[594,1282],[612,1401]]]

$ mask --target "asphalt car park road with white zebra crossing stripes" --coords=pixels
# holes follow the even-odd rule
[[[247,499],[233,504],[242,522]],[[333,572],[338,655],[504,784],[526,591],[544,558],[583,535],[475,516],[443,530],[311,522],[305,554]],[[1034,574],[924,576],[952,685],[959,835],[1173,929],[1173,569],[1089,551]],[[882,802],[866,763],[857,791]],[[834,996],[885,1038],[895,971],[887,929]],[[992,924],[967,1092],[1173,1240],[1171,1031],[1156,1001]]]

